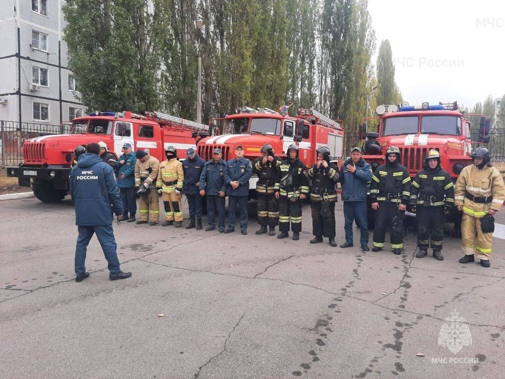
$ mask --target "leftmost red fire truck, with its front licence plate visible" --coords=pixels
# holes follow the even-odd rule
[[[132,112],[93,112],[72,120],[70,134],[44,135],[31,138],[23,145],[24,162],[8,167],[7,175],[18,177],[19,185],[33,187],[37,199],[54,203],[68,193],[68,177],[74,149],[78,145],[104,141],[108,150],[119,157],[129,143],[134,151],[165,160],[165,148],[177,149],[179,158],[186,149],[196,148],[198,139],[207,137],[209,127],[164,113],[138,115]]]

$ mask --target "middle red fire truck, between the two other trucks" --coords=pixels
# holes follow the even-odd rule
[[[261,147],[272,145],[278,157],[287,156],[287,148],[296,144],[299,158],[307,166],[316,163],[316,150],[321,146],[330,149],[335,160],[343,158],[343,123],[310,109],[298,109],[296,117],[269,108],[237,108],[235,114],[211,120],[213,135],[198,141],[197,152],[205,160],[212,159],[212,151],[220,148],[223,159],[235,157],[235,148],[244,148],[244,157],[255,160],[261,156]],[[254,175],[249,180],[249,197],[256,198]]]

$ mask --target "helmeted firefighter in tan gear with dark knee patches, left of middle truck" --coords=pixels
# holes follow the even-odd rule
[[[163,195],[165,206],[165,222],[162,226],[174,224],[176,228],[180,228],[183,220],[181,198],[184,170],[182,163],[177,159],[177,150],[173,146],[165,149],[165,156],[167,160],[160,164],[156,182],[156,189],[160,195]]]

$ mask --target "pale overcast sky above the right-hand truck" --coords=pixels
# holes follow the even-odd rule
[[[505,94],[505,2],[369,0],[377,53],[389,39],[405,101],[469,108]]]

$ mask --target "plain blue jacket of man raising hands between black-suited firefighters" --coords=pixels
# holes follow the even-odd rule
[[[347,171],[347,165],[352,159],[347,159],[340,167],[340,183],[342,185],[342,201],[367,201],[368,183],[372,180],[372,167],[363,158],[355,164],[356,172]]]

